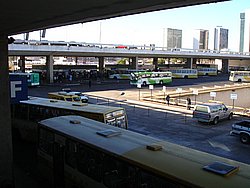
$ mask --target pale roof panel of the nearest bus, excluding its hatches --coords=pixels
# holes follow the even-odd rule
[[[70,121],[79,121],[72,124]],[[145,136],[132,131],[89,120],[79,116],[61,116],[40,122],[42,126],[55,132],[74,137],[78,141],[87,143],[95,148],[138,164],[147,170],[152,170],[168,178],[177,178],[179,182],[197,187],[244,187],[250,186],[250,166],[230,159],[179,146],[156,138]],[[106,138],[97,134],[98,131],[112,129],[121,132],[120,135]],[[161,145],[159,151],[146,148],[148,145]],[[226,178],[207,172],[202,168],[215,161],[229,163],[240,167],[240,170]],[[190,173],[190,170],[192,173]]]

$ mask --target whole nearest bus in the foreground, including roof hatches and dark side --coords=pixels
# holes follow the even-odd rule
[[[38,167],[54,187],[250,187],[250,166],[79,116],[39,122]]]

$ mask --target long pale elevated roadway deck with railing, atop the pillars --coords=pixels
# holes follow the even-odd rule
[[[249,60],[249,53],[214,50],[167,49],[163,47],[133,46],[116,48],[116,44],[62,43],[53,41],[19,41],[9,45],[9,55],[16,56],[89,56],[89,57],[182,57],[203,59]]]

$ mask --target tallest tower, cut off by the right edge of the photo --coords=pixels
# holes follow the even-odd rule
[[[250,52],[250,9],[240,13],[240,52]]]

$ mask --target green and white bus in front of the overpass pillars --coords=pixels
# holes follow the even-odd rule
[[[172,83],[171,72],[134,72],[131,73],[131,85],[154,85],[154,84],[170,84]]]

